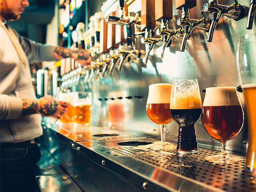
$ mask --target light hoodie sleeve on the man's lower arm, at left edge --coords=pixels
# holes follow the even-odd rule
[[[18,119],[22,112],[22,99],[0,94],[0,119]]]

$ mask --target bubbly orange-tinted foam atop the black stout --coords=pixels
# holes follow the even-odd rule
[[[170,109],[200,109],[202,100],[198,84],[192,79],[178,79],[173,85]]]

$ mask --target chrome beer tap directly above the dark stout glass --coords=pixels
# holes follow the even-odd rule
[[[190,19],[189,9],[195,6],[196,6],[195,0],[185,2],[183,4],[180,4],[180,1],[176,2],[176,9],[182,10],[181,18],[177,19],[177,25],[184,29],[184,35],[183,35],[183,39],[180,47],[180,51],[182,52],[185,50],[186,41],[188,40],[189,35],[191,34],[194,28],[201,29],[206,32],[209,30],[211,20],[206,18],[203,11],[201,11],[201,14],[203,15],[202,19],[200,20]]]

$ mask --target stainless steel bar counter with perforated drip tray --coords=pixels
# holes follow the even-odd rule
[[[236,153],[243,157],[241,162],[219,165],[204,160],[216,149],[201,145],[198,154],[178,156],[175,141],[170,141],[174,147],[164,150],[150,148],[150,143],[160,140],[150,134],[57,125],[47,118],[42,125],[42,145],[84,191],[256,191],[256,177],[245,172],[242,153]]]

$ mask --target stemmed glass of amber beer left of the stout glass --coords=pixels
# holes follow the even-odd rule
[[[148,90],[146,112],[148,118],[160,127],[161,145],[166,145],[166,125],[172,122],[169,110],[172,84],[151,84]]]

